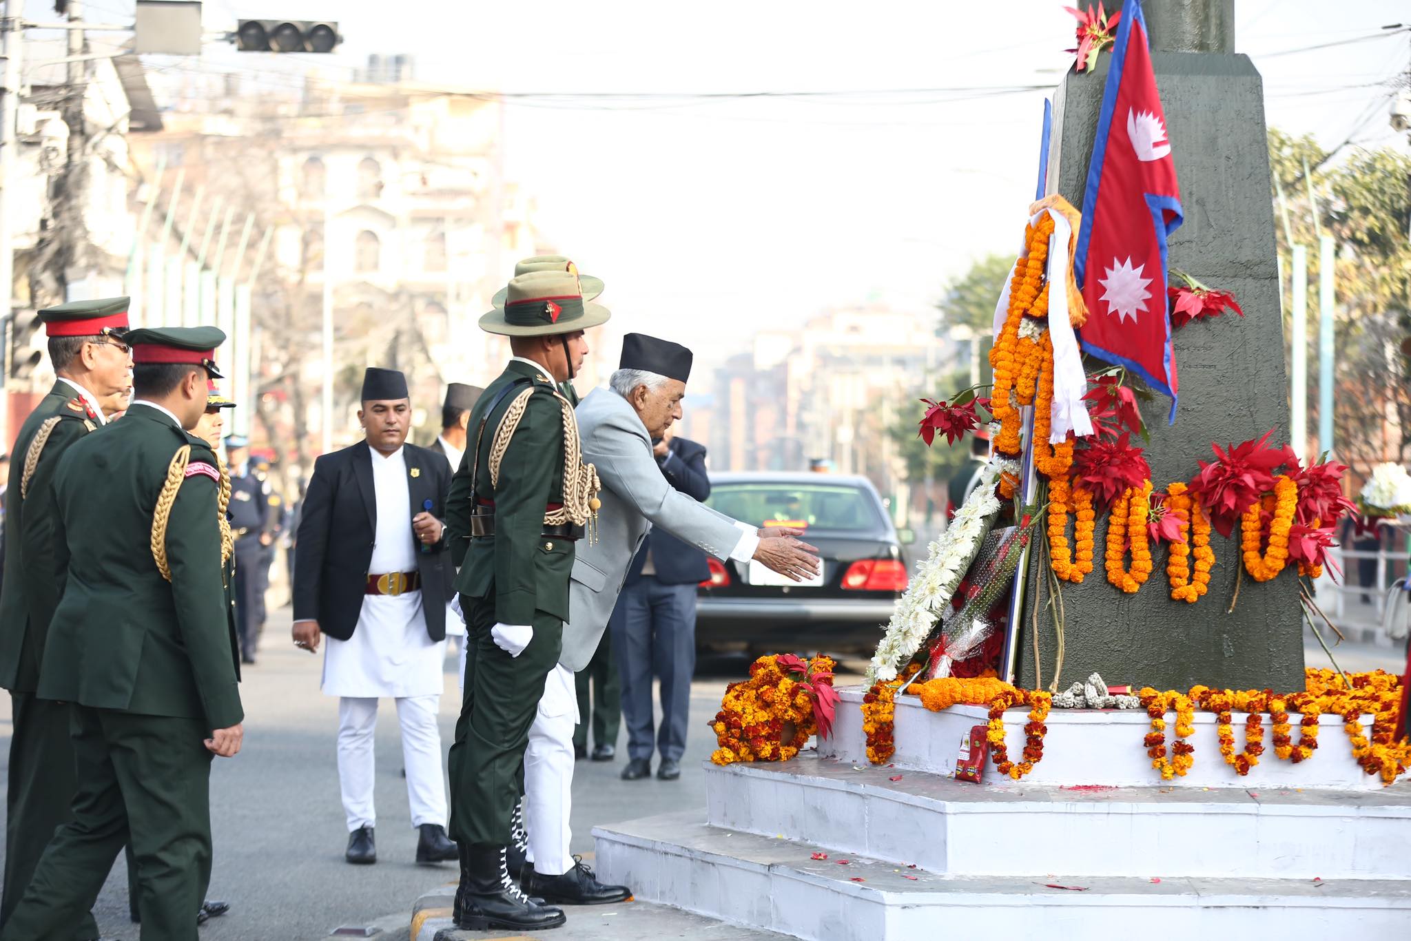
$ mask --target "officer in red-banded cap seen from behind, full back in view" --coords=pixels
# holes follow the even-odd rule
[[[135,401],[54,474],[66,569],[38,696],[72,703],[73,820],[0,941],[63,941],[131,842],[144,937],[196,938],[210,880],[210,759],[240,751],[236,638],[210,446],[185,429],[219,375],[214,327],[134,330]]]

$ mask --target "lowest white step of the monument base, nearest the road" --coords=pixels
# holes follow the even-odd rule
[[[593,834],[600,878],[632,886],[642,901],[816,941],[983,937],[995,925],[1007,925],[1013,937],[1102,937],[1160,925],[1163,934],[1326,941],[1353,930],[1401,930],[1411,920],[1411,880],[1404,879],[957,878],[711,827],[700,811]],[[1010,851],[1024,856],[1027,845]]]

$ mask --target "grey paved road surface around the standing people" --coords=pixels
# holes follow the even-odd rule
[[[391,703],[382,704],[377,734],[380,862],[375,866],[343,862],[347,835],[334,766],[336,700],[317,688],[322,655],[295,650],[288,641],[288,608],[274,612],[260,664],[246,673],[241,690],[248,714],[246,751],[234,759],[216,760],[212,897],[229,899],[234,909],[202,931],[206,941],[323,938],[339,925],[409,913],[418,896],[456,876],[449,863],[425,868],[413,862],[416,842],[399,775],[401,745]],[[1404,659],[1398,664],[1398,657],[1388,648],[1345,645],[1339,650],[1349,670],[1376,666],[1398,670],[1404,664]],[[1309,649],[1311,664],[1324,660],[1315,646]],[[690,746],[679,782],[622,782],[618,779],[622,759],[579,763],[573,789],[574,852],[591,854],[594,824],[704,806],[698,763],[713,748],[704,722],[718,708],[725,683],[744,676],[746,664],[745,657],[714,659],[703,670],[708,676],[693,683]],[[447,694],[440,707],[446,745],[459,708],[450,669],[447,660]],[[0,755],[6,759],[8,722],[8,697],[0,697]],[[622,741],[618,748],[624,748]],[[137,935],[127,921],[121,858],[99,897],[97,913],[106,935]]]

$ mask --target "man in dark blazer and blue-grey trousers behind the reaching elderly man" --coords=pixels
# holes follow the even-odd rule
[[[656,463],[676,490],[697,501],[710,497],[706,447],[684,437],[656,446]],[[682,776],[686,720],[696,672],[696,585],[710,578],[706,553],[652,529],[632,559],[608,629],[622,684],[628,763],[624,780],[652,773],[652,677],[662,684],[662,725],[656,776]]]

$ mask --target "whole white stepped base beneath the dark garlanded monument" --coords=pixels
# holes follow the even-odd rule
[[[1109,714],[1054,710],[1033,775],[1000,782],[991,763],[971,784],[920,769],[954,765],[983,710],[912,710],[902,697],[897,760],[876,767],[825,756],[864,753],[859,693],[842,694],[820,751],[707,765],[704,813],[595,828],[600,878],[643,901],[820,941],[1140,928],[1326,941],[1411,924],[1411,783],[1363,775],[1336,722],[1298,766],[1270,749],[1254,769],[1264,779],[1219,779],[1213,728],[1209,742],[1198,729],[1191,776],[1213,782],[1198,784],[1150,769],[1144,712],[1105,724],[1095,717]],[[1022,736],[1023,722],[1015,712],[1006,725]],[[1119,751],[1140,758],[1141,783],[1108,784],[1139,776]],[[1288,769],[1307,780],[1284,782]]]

